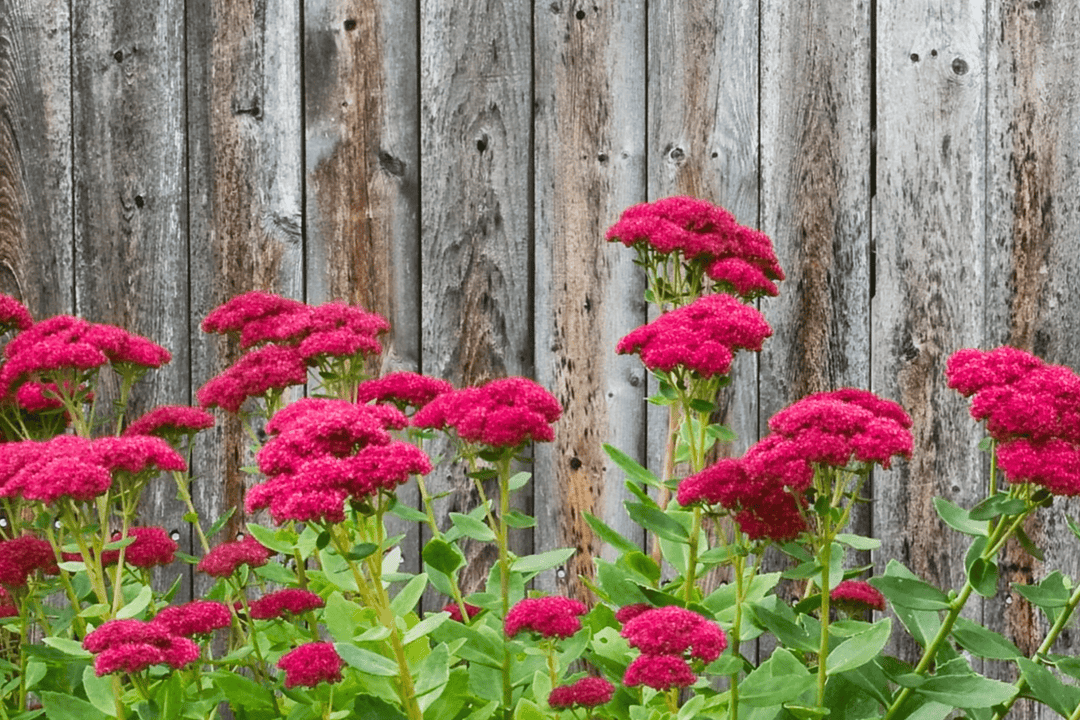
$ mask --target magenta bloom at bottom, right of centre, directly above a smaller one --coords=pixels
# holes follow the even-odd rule
[[[631,648],[647,655],[680,655],[712,662],[728,647],[720,626],[698,613],[667,606],[653,608],[626,621],[620,633]]]

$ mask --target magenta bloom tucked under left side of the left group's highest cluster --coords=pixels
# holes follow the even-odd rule
[[[308,366],[295,348],[266,345],[252,350],[212,378],[195,392],[195,397],[204,408],[239,412],[248,397],[302,385],[307,379]]]

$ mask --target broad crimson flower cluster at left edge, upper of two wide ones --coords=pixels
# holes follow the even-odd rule
[[[108,364],[157,368],[172,359],[167,350],[141,336],[72,315],[25,327],[4,347],[3,354],[6,362],[0,367],[0,393],[8,399],[15,398],[23,382],[41,381],[51,372],[90,371]]]

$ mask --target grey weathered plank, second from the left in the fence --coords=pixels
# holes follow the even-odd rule
[[[76,310],[173,353],[135,386],[133,418],[189,393],[184,4],[87,2],[72,12]],[[190,529],[175,497],[168,478],[151,485],[139,522],[164,527],[186,548]],[[167,586],[173,572],[158,582]]]

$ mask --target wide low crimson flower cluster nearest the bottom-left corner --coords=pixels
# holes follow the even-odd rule
[[[180,669],[199,660],[190,638],[175,635],[164,624],[141,620],[110,620],[83,638],[82,647],[95,655],[94,671],[141,673],[151,665]]]

